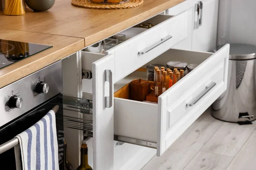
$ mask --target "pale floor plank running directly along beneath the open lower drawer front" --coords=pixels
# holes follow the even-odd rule
[[[222,124],[207,109],[161,157],[153,157],[142,170],[182,170]]]

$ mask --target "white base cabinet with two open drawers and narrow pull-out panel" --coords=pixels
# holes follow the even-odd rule
[[[81,52],[77,73],[91,71],[92,79],[80,79],[77,85],[82,83],[83,88],[77,88],[84,92],[81,96],[85,97],[85,92],[92,96],[93,115],[78,116],[93,121],[94,170],[114,169],[114,139],[155,148],[161,156],[227,88],[229,45],[215,54],[170,49],[187,38],[190,40],[184,44],[192,41],[191,13],[188,8],[175,17],[152,17],[145,22],[157,26],[140,33],[132,28],[121,32],[129,35],[129,40],[106,54]],[[199,66],[159,96],[157,105],[114,98],[114,92],[132,80],[131,75],[138,78],[138,68],[171,60]]]

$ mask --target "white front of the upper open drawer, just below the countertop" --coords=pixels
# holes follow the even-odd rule
[[[167,15],[157,15],[147,20],[147,23],[159,24],[108,51],[109,54],[115,55],[116,81],[127,76],[186,38],[187,11],[175,17],[169,17]],[[166,20],[166,18],[169,19]],[[165,21],[160,23],[161,20]],[[145,48],[151,50],[145,54],[139,54]]]

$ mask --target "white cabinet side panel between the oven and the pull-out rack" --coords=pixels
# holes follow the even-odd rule
[[[82,97],[81,72],[79,72],[79,69],[81,69],[81,51],[62,60],[63,95]],[[80,112],[64,110],[63,114],[64,116],[83,118],[83,114]],[[64,127],[64,140],[67,142],[68,160],[74,169],[80,164],[80,147],[83,139],[84,136],[81,130]]]

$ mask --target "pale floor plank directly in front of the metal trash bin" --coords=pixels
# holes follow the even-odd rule
[[[201,150],[235,157],[255,128],[255,122],[253,125],[224,122]]]

